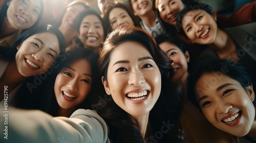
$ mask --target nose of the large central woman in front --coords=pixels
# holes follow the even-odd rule
[[[143,77],[143,74],[140,70],[133,70],[130,73],[130,79],[128,81],[129,85],[134,85],[134,86],[140,86],[142,83],[145,82],[145,79]]]

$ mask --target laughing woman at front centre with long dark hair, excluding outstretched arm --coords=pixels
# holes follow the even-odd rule
[[[104,42],[98,62],[110,100],[100,103],[97,111],[114,142],[150,141],[166,122],[173,127],[158,141],[182,140],[181,94],[168,79],[173,76],[172,61],[151,34],[137,27],[116,29]]]

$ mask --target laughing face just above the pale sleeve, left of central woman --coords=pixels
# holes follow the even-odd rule
[[[61,108],[70,109],[82,103],[92,88],[92,70],[87,59],[79,59],[56,77],[54,93]]]

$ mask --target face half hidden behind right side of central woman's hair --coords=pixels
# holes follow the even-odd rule
[[[174,77],[173,81],[185,81],[187,79],[187,62],[189,62],[189,54],[186,51],[185,54],[179,49],[179,47],[170,42],[162,42],[159,44],[161,49],[173,60],[174,65]]]

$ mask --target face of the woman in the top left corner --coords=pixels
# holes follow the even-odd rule
[[[17,30],[28,29],[34,25],[41,12],[40,1],[12,0],[7,3],[7,19]]]

